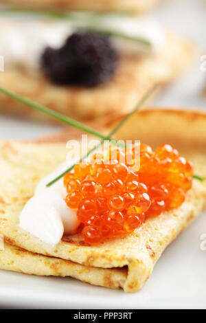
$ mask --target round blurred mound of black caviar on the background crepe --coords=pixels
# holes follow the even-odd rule
[[[114,74],[117,52],[106,36],[76,32],[59,49],[47,47],[41,65],[57,85],[95,87]]]

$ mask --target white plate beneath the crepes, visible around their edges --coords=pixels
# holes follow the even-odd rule
[[[206,107],[201,97],[203,81],[200,57],[206,54],[205,0],[165,1],[156,10],[162,21],[196,39],[200,46],[194,67],[155,101],[156,106]],[[204,47],[205,46],[205,47]],[[203,49],[205,48],[205,52]],[[25,108],[26,109],[26,108]],[[57,127],[0,117],[0,137],[32,138]],[[93,287],[72,278],[45,278],[0,271],[0,307],[70,309],[206,308],[206,213],[168,247],[144,289],[128,294]]]

